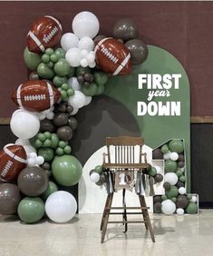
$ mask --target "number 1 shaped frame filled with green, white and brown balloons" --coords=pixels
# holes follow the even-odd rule
[[[181,215],[185,212],[198,212],[197,196],[187,194],[186,166],[184,143],[182,140],[171,140],[152,152],[153,159],[165,160],[163,188],[165,194],[154,197],[154,212]]]

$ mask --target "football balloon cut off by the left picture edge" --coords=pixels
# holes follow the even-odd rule
[[[9,182],[17,179],[26,167],[26,153],[22,145],[8,144],[0,151],[0,180]]]

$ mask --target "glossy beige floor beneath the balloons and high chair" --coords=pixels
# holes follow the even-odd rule
[[[213,211],[199,215],[150,215],[156,242],[141,224],[109,224],[100,243],[100,214],[81,214],[65,224],[40,222],[27,225],[12,217],[0,217],[0,255],[13,256],[211,256]],[[118,218],[117,216],[114,218]]]

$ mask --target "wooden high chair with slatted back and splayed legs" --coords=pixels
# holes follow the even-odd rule
[[[141,192],[138,192],[140,207],[127,207],[125,203],[125,192],[126,189],[132,190],[132,186],[135,182],[135,174],[142,175],[142,173],[147,173],[150,169],[150,164],[147,162],[146,153],[142,153],[142,145],[144,140],[141,137],[108,137],[106,138],[107,153],[103,153],[103,163],[102,168],[106,176],[111,180],[111,189],[108,190],[108,196],[106,199],[104,211],[102,213],[101,231],[102,240],[107,230],[108,223],[122,223],[125,226],[125,231],[127,231],[128,223],[144,223],[146,230],[150,231],[151,240],[154,242],[154,232],[150,223],[150,216],[145,198]],[[111,150],[113,147],[113,153]],[[138,161],[136,159],[136,147],[139,147]],[[108,179],[108,182],[109,182]],[[111,207],[113,192],[119,190],[122,191],[123,201],[122,207]],[[127,210],[137,210],[140,209],[141,212],[127,212]],[[111,210],[123,210],[123,212],[111,212]],[[111,214],[122,214],[122,221],[109,222],[109,217]],[[142,221],[128,221],[128,214],[142,214]]]

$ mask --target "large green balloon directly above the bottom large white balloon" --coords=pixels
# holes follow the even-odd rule
[[[82,176],[82,164],[73,155],[55,156],[52,172],[55,181],[60,185],[73,186]]]

